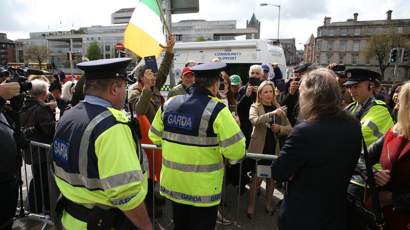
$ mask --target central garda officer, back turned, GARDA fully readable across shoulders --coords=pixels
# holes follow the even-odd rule
[[[214,229],[223,157],[239,163],[245,138],[229,109],[216,98],[226,63],[194,66],[195,84],[157,111],[149,137],[162,145],[160,193],[172,201],[174,229]]]

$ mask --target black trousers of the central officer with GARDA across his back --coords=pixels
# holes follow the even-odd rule
[[[174,230],[214,230],[218,205],[196,207],[172,201]]]

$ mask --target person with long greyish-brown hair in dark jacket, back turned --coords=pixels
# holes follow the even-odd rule
[[[273,179],[290,181],[279,229],[347,229],[346,191],[361,151],[360,124],[339,105],[332,71],[305,75],[299,90],[304,120],[272,164]]]

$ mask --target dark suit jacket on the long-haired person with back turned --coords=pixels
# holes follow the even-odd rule
[[[279,213],[279,229],[346,229],[346,191],[361,151],[354,119],[296,125],[272,165],[275,180],[295,174]]]

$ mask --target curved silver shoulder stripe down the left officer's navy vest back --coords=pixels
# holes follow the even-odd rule
[[[88,145],[90,144],[90,135],[91,132],[93,131],[94,127],[103,121],[105,118],[108,118],[112,116],[112,113],[110,110],[101,112],[98,114],[97,117],[95,117],[93,120],[91,120],[90,124],[88,124],[86,130],[83,133],[83,137],[81,137],[81,144],[80,144],[80,149],[79,149],[79,155],[78,155],[78,170],[81,175],[84,175],[87,177],[87,165],[88,165]]]

